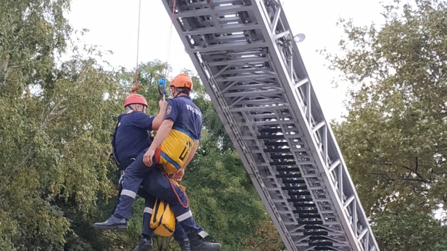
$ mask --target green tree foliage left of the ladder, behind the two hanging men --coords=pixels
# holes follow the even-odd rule
[[[70,0],[0,4],[0,250],[133,250],[140,239],[141,198],[128,231],[91,227],[116,205],[118,177],[107,157],[135,70],[105,70],[87,47],[60,61],[73,42],[63,16],[69,7]],[[278,251],[284,245],[213,104],[199,78],[185,72],[193,75],[192,97],[205,115],[203,140],[182,182],[197,222],[223,251]],[[159,61],[139,65],[145,89],[138,93],[150,114],[158,110],[163,75]],[[172,238],[156,238],[154,250],[179,247]]]

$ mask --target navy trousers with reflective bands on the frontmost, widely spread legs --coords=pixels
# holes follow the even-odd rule
[[[194,229],[197,234],[202,236],[202,238],[208,236],[208,233],[206,233],[202,227],[195,223],[192,212],[189,209],[189,205],[187,207],[183,206],[187,205],[185,192],[175,184],[172,184],[182,202],[180,203],[177,195],[171,187],[171,182],[166,176],[164,176],[161,168],[155,164],[148,167],[143,163],[143,156],[147,150],[148,149],[145,149],[141,152],[135,161],[126,168],[126,172],[123,177],[123,190],[121,191],[120,200],[115,209],[114,216],[117,218],[126,218],[127,220],[130,219],[132,204],[137,196],[140,185],[143,185],[143,189],[152,195],[153,198],[161,199],[169,204],[174,212],[174,216],[185,231]],[[152,161],[152,163],[155,163],[155,157]],[[150,210],[148,209],[148,214],[149,211]]]

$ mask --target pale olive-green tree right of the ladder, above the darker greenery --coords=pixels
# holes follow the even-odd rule
[[[367,213],[430,211],[447,205],[447,5],[384,7],[381,29],[342,20],[344,55],[327,55],[351,83],[335,132]]]

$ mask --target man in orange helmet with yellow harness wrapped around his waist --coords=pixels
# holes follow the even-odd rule
[[[164,121],[145,153],[143,162],[149,167],[154,162],[160,164],[167,174],[173,175],[174,181],[179,182],[202,139],[203,115],[189,97],[193,91],[193,82],[188,74],[182,73],[174,77],[169,87],[173,98],[167,103]],[[144,186],[150,186],[150,182]],[[164,201],[171,205],[179,224],[186,231],[191,250],[219,250],[221,244],[207,241],[205,237],[208,233],[194,222],[184,191],[178,187],[175,190],[180,203],[176,203],[175,199]]]

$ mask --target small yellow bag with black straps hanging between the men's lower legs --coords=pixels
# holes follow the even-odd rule
[[[175,231],[175,216],[168,203],[155,200],[152,216],[150,217],[150,228],[159,236],[169,237]]]

